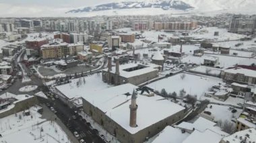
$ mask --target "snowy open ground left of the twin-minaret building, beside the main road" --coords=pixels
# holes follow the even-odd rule
[[[101,74],[94,74],[88,77],[81,77],[79,79],[72,79],[71,83],[60,85],[56,88],[68,98],[84,97],[92,92],[100,89],[106,89],[110,85],[102,81]]]

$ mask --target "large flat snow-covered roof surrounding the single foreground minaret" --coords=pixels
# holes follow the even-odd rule
[[[185,109],[184,107],[165,100],[158,95],[154,97],[146,97],[144,95],[137,96],[137,127],[129,126],[129,105],[131,96],[125,93],[132,93],[133,89],[137,89],[135,85],[127,83],[116,87],[110,87],[91,94],[86,94],[84,99],[92,103],[95,107],[102,110],[108,117],[114,120],[131,134],[135,134],[152,124],[155,124],[166,117],[173,115]],[[145,120],[147,119],[147,120]]]

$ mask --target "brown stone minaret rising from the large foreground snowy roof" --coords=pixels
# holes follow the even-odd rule
[[[133,128],[137,127],[136,120],[137,120],[137,108],[138,105],[136,104],[137,94],[133,90],[133,95],[131,95],[131,105],[130,107],[130,126]]]

